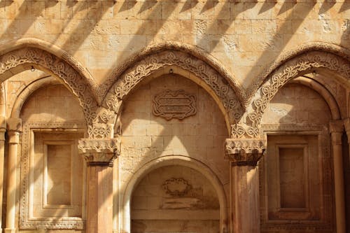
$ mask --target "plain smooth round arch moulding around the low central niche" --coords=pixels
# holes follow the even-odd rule
[[[189,167],[191,169],[195,169],[199,171],[205,178],[207,178],[210,183],[214,186],[216,190],[216,194],[218,195],[218,201],[220,204],[220,232],[228,231],[228,199],[225,195],[225,190],[223,188],[223,183],[219,180],[218,176],[207,167],[206,164],[200,162],[199,160],[195,160],[190,157],[182,156],[182,155],[166,155],[162,157],[158,157],[150,162],[147,162],[142,167],[137,169],[137,171],[131,176],[131,178],[127,181],[125,188],[123,189],[121,204],[123,205],[122,212],[122,227],[123,232],[130,233],[130,200],[132,197],[132,192],[134,188],[137,187],[137,183],[141,181],[141,178],[148,174],[150,171],[154,169],[158,169],[160,167],[166,167],[169,165],[180,165],[183,167]],[[116,227],[115,227],[116,228]]]

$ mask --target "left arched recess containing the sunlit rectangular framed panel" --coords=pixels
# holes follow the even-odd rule
[[[64,85],[33,92],[22,107],[20,228],[83,229],[85,120]]]

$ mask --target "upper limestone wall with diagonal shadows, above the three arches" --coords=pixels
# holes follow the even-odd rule
[[[347,1],[2,1],[0,43],[39,38],[98,83],[148,45],[178,41],[213,55],[248,87],[300,43],[349,48]],[[232,65],[233,64],[233,65]]]

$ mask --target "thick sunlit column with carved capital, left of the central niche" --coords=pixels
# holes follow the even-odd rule
[[[79,151],[87,162],[86,232],[113,232],[113,160],[118,139],[81,139]]]

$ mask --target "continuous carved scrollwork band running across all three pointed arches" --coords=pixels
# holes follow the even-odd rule
[[[114,78],[109,78],[100,87],[94,85],[94,81],[90,80],[91,77],[90,79],[85,77],[86,71],[83,66],[72,65],[75,61],[67,53],[62,53],[62,58],[59,58],[39,48],[19,48],[1,55],[0,75],[22,64],[34,64],[52,72],[61,78],[70,87],[73,94],[78,97],[85,114],[89,138],[106,139],[113,135],[113,122],[125,96],[154,71],[166,66],[179,66],[206,83],[223,103],[232,124],[232,138],[254,138],[260,134],[258,130],[260,120],[269,101],[288,80],[314,68],[329,69],[343,77],[349,77],[349,62],[346,60],[349,59],[349,55],[346,55],[346,52],[342,52],[339,48],[333,47],[332,45],[317,44],[315,47],[317,50],[328,52],[311,50],[313,48],[311,46],[297,50],[297,52],[302,52],[303,49],[307,51],[297,57],[287,54],[288,59],[286,61],[282,59],[283,64],[273,65],[273,69],[267,70],[269,75],[264,78],[267,81],[261,85],[262,81],[258,78],[259,80],[248,90],[247,94],[242,92],[234,81],[228,80],[230,79],[228,72],[221,66],[211,59],[203,57],[203,54],[197,50],[181,48],[178,45],[159,45],[146,50],[144,52],[147,55],[145,58],[138,55],[136,58],[130,59],[124,66],[120,66],[112,73],[116,75],[111,76]],[[188,50],[192,50],[192,52],[188,52]],[[127,69],[127,67],[130,68]],[[119,78],[112,85],[115,77]],[[111,85],[112,87],[109,89]],[[259,89],[255,89],[257,85],[260,85]],[[106,93],[107,90],[109,92],[106,94],[103,106],[99,107],[95,96],[97,99],[102,99],[102,94]],[[241,101],[248,102],[251,96],[253,99],[248,104],[247,110],[244,111]],[[242,118],[243,115],[244,118]]]

